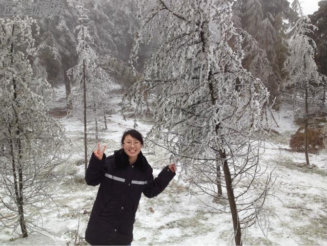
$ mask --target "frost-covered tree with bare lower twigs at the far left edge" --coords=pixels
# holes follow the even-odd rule
[[[22,237],[42,230],[35,213],[54,205],[52,175],[65,141],[38,93],[50,85],[30,64],[34,24],[29,17],[0,19],[0,225],[20,227]]]

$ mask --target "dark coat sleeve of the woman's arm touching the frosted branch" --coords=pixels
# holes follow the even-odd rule
[[[144,196],[152,198],[159,195],[169,184],[171,179],[175,177],[176,173],[173,173],[168,166],[164,167],[157,178],[153,179],[152,168],[149,166],[147,170],[147,185],[143,190]]]

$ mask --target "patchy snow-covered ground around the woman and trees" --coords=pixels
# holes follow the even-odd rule
[[[64,101],[64,86],[57,96]],[[63,98],[62,98],[63,97]],[[123,131],[133,127],[133,119],[123,120],[120,113],[121,95],[108,96],[114,103],[112,114],[107,115],[108,129],[102,130],[101,142],[107,144],[105,153],[110,155],[120,148]],[[56,101],[52,104],[56,107]],[[61,106],[60,106],[61,107]],[[277,114],[276,114],[277,118]],[[82,122],[62,117],[62,124],[72,139],[71,157],[62,163],[62,177],[57,190],[62,196],[60,207],[43,213],[43,227],[50,233],[30,234],[21,239],[18,234],[11,235],[8,228],[0,228],[0,245],[74,245],[75,238],[84,237],[89,213],[92,209],[98,187],[87,186],[83,181],[84,165]],[[146,134],[151,125],[149,121],[138,122],[141,133]],[[265,237],[258,224],[246,232],[244,245],[327,245],[327,153],[321,151],[310,155],[312,168],[307,168],[303,153],[288,152],[288,140],[298,128],[292,114],[281,110],[278,117],[279,128],[272,140],[266,143],[266,151],[261,162],[273,169],[276,182],[266,201],[269,224]],[[89,153],[96,142],[88,142]],[[163,165],[169,164],[164,150],[143,149],[144,155],[154,168],[156,176]],[[162,161],[160,161],[162,160]],[[180,171],[180,170],[179,170]],[[162,194],[147,199],[142,197],[136,214],[134,241],[132,245],[231,245],[234,244],[231,215],[204,206],[212,203],[212,198],[201,196],[200,201],[189,192],[188,185],[177,177]],[[41,221],[40,221],[41,222]],[[77,231],[78,230],[78,231]],[[77,243],[79,241],[77,240]],[[82,244],[85,244],[83,242]]]

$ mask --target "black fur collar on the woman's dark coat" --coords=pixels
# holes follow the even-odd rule
[[[126,155],[124,149],[115,150],[114,151],[115,157],[115,165],[118,169],[126,168],[129,165],[128,156]],[[143,156],[142,152],[137,157],[136,162],[133,164],[136,168],[140,169],[141,171],[145,172],[148,168],[148,162],[146,158]]]

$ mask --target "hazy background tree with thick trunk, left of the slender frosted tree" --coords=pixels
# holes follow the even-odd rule
[[[66,108],[71,110],[71,88],[67,70],[77,62],[74,27],[78,24],[76,0],[61,0],[64,5],[60,15],[44,16],[38,20],[40,35],[35,35],[36,44],[44,46],[39,54],[40,64],[48,73],[48,82],[57,86],[62,83],[66,90]]]

